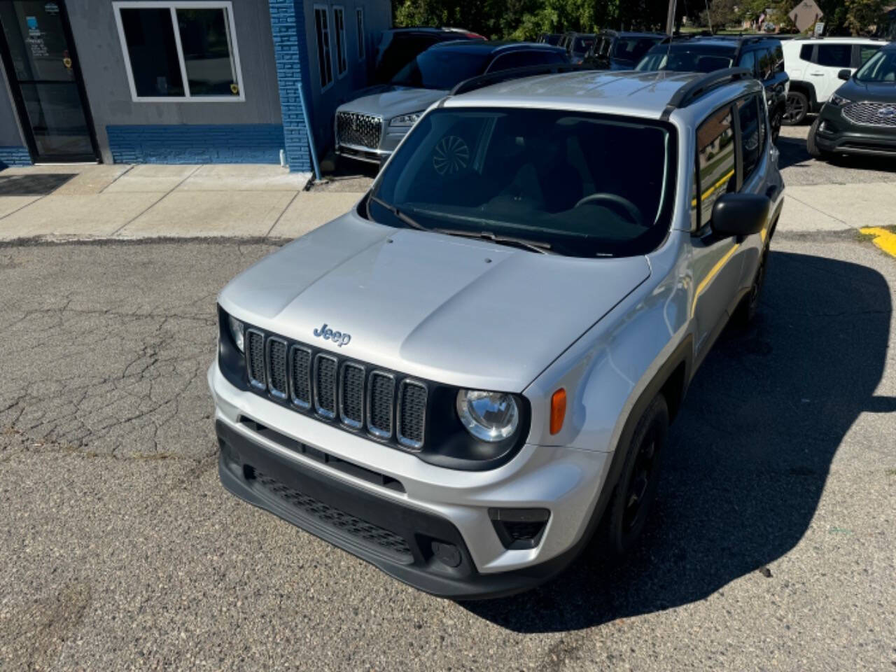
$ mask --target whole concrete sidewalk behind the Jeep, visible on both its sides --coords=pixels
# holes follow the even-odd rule
[[[778,230],[896,225],[889,164],[810,159],[806,127],[785,128],[788,184]],[[872,168],[881,168],[874,164]],[[348,211],[368,177],[315,186],[279,166],[34,166],[0,171],[0,240],[15,238],[294,238]]]

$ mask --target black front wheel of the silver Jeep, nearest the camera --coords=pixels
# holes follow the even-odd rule
[[[605,540],[610,556],[625,555],[641,536],[657,494],[659,461],[668,424],[668,406],[659,394],[638,420],[622,473],[607,504]]]

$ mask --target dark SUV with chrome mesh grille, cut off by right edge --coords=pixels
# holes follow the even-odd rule
[[[896,42],[883,47],[824,104],[806,149],[816,159],[834,153],[896,155]]]

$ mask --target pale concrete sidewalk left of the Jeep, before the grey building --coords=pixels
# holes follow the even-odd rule
[[[0,240],[293,238],[361,196],[306,192],[309,177],[263,165],[7,168],[0,172]]]

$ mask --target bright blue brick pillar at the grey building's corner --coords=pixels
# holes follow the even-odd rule
[[[308,151],[302,100],[298,92],[298,87],[304,85],[307,77],[308,52],[303,0],[269,1],[286,157],[289,170],[307,172],[311,170],[311,155]]]

